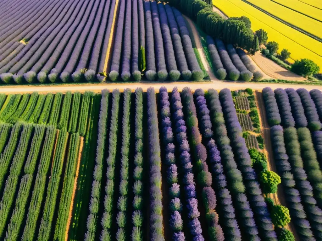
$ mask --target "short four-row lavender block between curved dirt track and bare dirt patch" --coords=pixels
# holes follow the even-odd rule
[[[244,50],[235,49],[231,44],[225,47],[222,40],[214,41],[210,36],[207,36],[206,41],[213,66],[216,69],[215,74],[219,79],[223,80],[228,75],[228,78],[234,81],[238,79],[250,81],[252,78],[258,81],[263,77]]]

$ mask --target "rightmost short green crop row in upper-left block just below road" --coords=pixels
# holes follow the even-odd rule
[[[79,113],[79,122],[77,127],[77,132],[80,134],[80,136],[85,136],[86,134],[88,112],[90,110],[90,103],[93,94],[94,93],[91,91],[85,91],[85,93],[82,95],[81,111]]]

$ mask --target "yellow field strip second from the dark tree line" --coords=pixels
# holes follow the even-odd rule
[[[274,16],[297,26],[319,38],[322,38],[322,22],[309,18],[301,13],[295,12],[287,7],[274,3],[270,0],[247,0]],[[322,1],[321,1],[322,2]]]

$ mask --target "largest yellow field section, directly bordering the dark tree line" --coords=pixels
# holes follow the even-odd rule
[[[279,43],[279,51],[286,48],[291,59],[308,58],[320,66],[322,72],[322,43],[285,25],[241,0],[213,0],[213,5],[228,17],[246,16],[251,20],[251,29],[268,32],[268,41]]]

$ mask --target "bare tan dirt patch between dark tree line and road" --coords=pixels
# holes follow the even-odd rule
[[[254,63],[268,76],[274,79],[286,79],[286,80],[295,80],[303,81],[306,80],[304,77],[299,76],[281,66],[276,64],[274,61],[269,58],[264,57],[260,52],[257,52],[255,55],[251,56]]]

